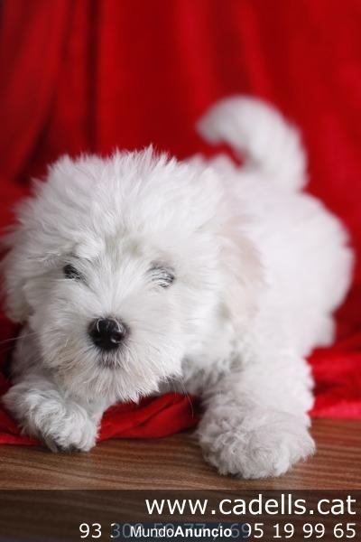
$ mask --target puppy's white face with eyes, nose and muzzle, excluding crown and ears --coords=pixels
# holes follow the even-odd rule
[[[87,396],[136,399],[180,371],[189,342],[187,276],[146,238],[75,247],[24,286],[42,359]],[[196,292],[191,290],[193,301]]]

